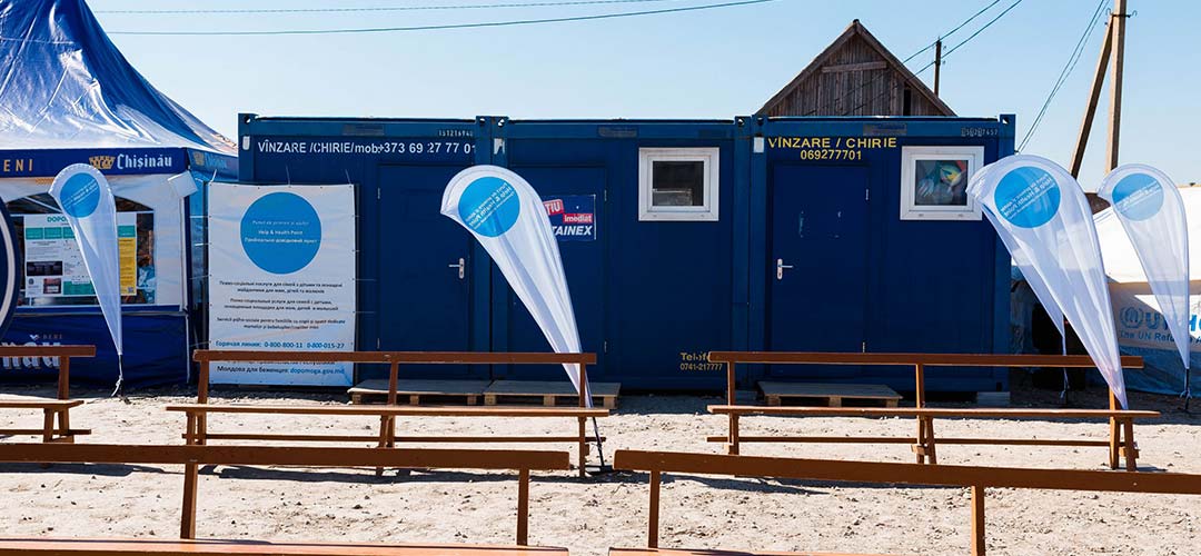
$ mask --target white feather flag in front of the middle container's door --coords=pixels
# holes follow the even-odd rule
[[[563,261],[538,192],[507,168],[473,166],[447,184],[442,214],[467,228],[488,250],[550,347],[557,353],[579,353],[580,333]],[[588,385],[580,384],[579,365],[563,367],[575,391],[584,391],[592,407]]]

